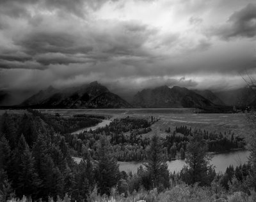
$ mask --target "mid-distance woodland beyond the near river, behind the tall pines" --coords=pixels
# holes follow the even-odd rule
[[[115,120],[116,126],[121,125],[117,123],[118,120]],[[106,131],[109,131],[109,127],[110,126],[106,126],[104,127],[104,129],[106,129]],[[150,129],[150,127],[142,129]],[[183,129],[177,127],[177,129],[178,131],[185,131],[184,129],[186,129],[186,127],[183,127]],[[231,138],[228,138],[227,136],[229,134],[226,133],[225,135],[223,135],[221,133],[208,133],[208,131],[203,132],[202,130],[190,132],[191,129],[186,129],[186,131],[189,131],[189,135],[185,136],[173,133],[167,135],[165,138],[161,138],[161,141],[163,142],[163,154],[169,161],[177,158],[185,158],[189,138],[193,137],[193,134],[200,134],[204,138],[207,143],[208,152],[221,152],[224,150],[231,150],[232,148],[244,148],[245,145],[244,139],[237,136],[236,138],[234,138],[234,134],[231,134]],[[124,134],[123,132],[106,133],[105,131],[102,131],[101,133],[84,132],[81,134],[65,134],[65,138],[68,145],[70,145],[70,147],[72,148],[72,154],[76,156],[81,156],[83,150],[82,148],[86,147],[92,150],[92,157],[93,159],[95,159],[97,141],[102,134],[108,134],[109,141],[111,143],[111,151],[115,154],[118,161],[147,160],[146,153],[150,144],[150,138],[143,138],[141,135],[136,134],[136,131],[134,130],[130,134]]]

